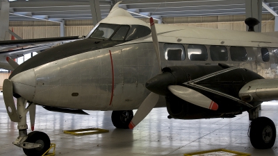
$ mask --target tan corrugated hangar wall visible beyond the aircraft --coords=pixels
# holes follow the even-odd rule
[[[264,14],[262,32],[275,30],[274,16]],[[142,19],[148,21],[149,19]],[[246,31],[245,15],[209,16],[209,17],[164,17],[164,24],[197,26]],[[87,35],[92,30],[92,20],[65,21],[65,36]],[[60,24],[51,21],[10,21],[10,30],[14,30],[23,39],[60,37]]]

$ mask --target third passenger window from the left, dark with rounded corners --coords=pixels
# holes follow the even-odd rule
[[[228,51],[225,46],[211,46],[209,50],[211,51],[211,60],[213,61],[228,60]]]

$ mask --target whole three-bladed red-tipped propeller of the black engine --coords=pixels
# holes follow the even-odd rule
[[[154,19],[151,17],[149,20],[151,23],[152,40],[154,43],[154,49],[156,51],[156,59],[157,59],[158,66],[159,66],[159,72],[161,73],[162,72],[161,60],[160,60],[160,54],[159,54],[159,46],[158,46],[158,38],[157,38],[157,34],[156,34],[156,27],[154,24]],[[165,82],[165,80],[167,80],[167,78],[164,77],[166,75],[161,76],[163,74],[164,73],[158,75],[159,78],[155,77],[152,79],[155,79],[154,82]],[[159,80],[160,78],[163,78],[163,80],[160,81]],[[145,119],[147,114],[149,114],[149,112],[152,111],[152,108],[154,108],[154,106],[158,102],[159,95],[155,93],[157,91],[157,86],[150,85],[149,83],[147,83],[147,84],[149,85],[149,87],[154,87],[154,88],[153,89],[148,88],[150,91],[152,91],[152,93],[150,93],[147,96],[147,98],[145,98],[145,100],[142,102],[142,104],[138,108],[136,114],[133,116],[133,119],[129,123],[130,129],[133,129],[136,125],[138,125],[138,123],[140,123],[143,119]],[[158,85],[161,85],[161,83],[158,83]],[[193,89],[190,89],[188,87],[179,86],[179,85],[170,85],[167,87],[167,89],[169,89],[170,92],[172,92],[172,94],[174,94],[175,96],[178,96],[179,98],[183,99],[184,101],[188,101],[190,103],[193,103],[194,105],[198,105],[200,107],[204,107],[209,110],[218,110],[217,103],[215,103],[210,98],[204,96],[203,94],[201,94]]]

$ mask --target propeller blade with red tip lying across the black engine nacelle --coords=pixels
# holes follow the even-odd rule
[[[178,96],[184,101],[188,101],[189,103],[193,103],[194,105],[198,105],[209,110],[218,110],[217,103],[193,89],[180,85],[170,85],[168,86],[168,89],[172,92],[172,94]]]

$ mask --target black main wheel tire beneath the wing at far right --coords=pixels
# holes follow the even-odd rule
[[[250,128],[250,141],[254,148],[268,149],[275,144],[276,128],[272,120],[267,117],[254,119]]]

